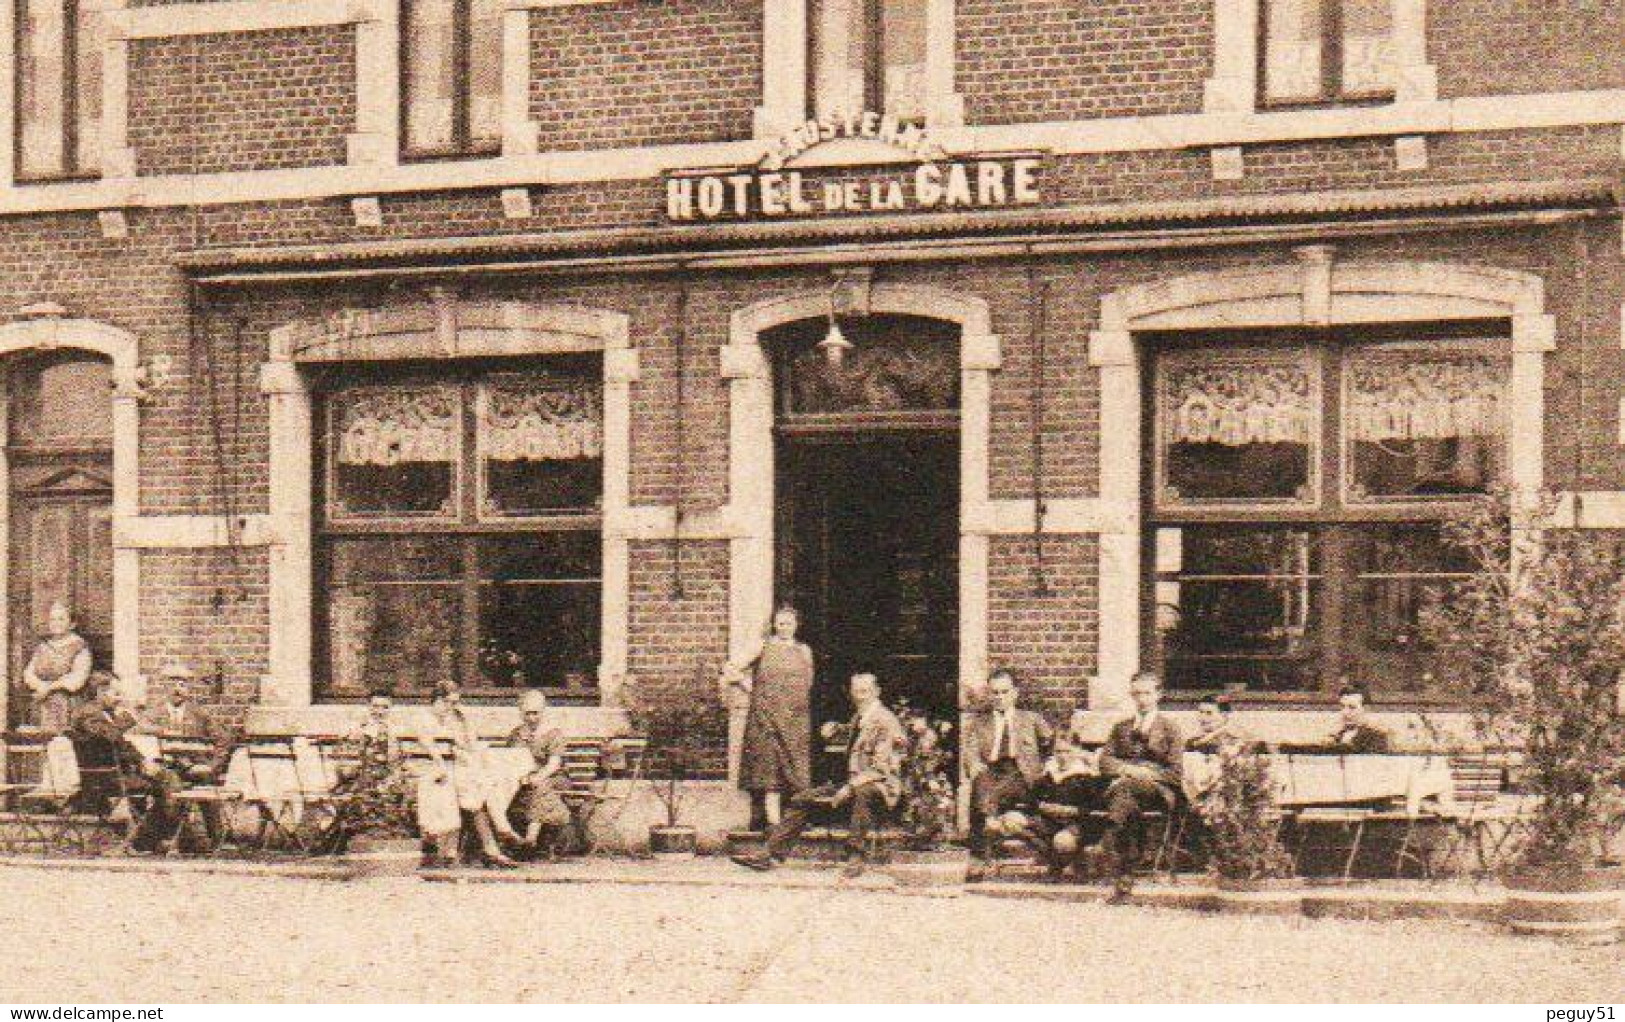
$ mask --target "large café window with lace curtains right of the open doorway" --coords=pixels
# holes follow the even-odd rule
[[[1505,470],[1506,341],[1479,338],[1154,348],[1147,617],[1170,689],[1451,699],[1417,626],[1469,570],[1440,520]]]

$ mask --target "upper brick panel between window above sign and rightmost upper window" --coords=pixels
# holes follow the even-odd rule
[[[1212,0],[960,0],[967,123],[1194,114],[1212,73]]]

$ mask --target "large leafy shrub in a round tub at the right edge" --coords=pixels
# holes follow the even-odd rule
[[[1563,526],[1560,510],[1497,496],[1448,523],[1474,574],[1424,609],[1424,635],[1435,669],[1479,700],[1480,741],[1521,757],[1508,923],[1607,941],[1625,890],[1610,855],[1625,821],[1625,539]]]

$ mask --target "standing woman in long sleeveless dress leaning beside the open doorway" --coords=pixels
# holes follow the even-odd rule
[[[795,608],[778,608],[762,650],[733,671],[733,684],[751,700],[739,747],[739,786],[751,793],[752,827],[777,824],[783,799],[812,786],[812,650],[796,640],[800,624]]]

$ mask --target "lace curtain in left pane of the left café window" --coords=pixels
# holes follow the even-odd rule
[[[453,461],[457,445],[458,401],[452,390],[364,390],[340,403],[340,465]]]

